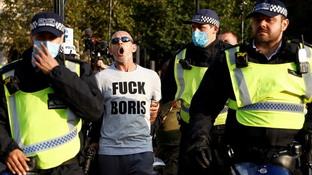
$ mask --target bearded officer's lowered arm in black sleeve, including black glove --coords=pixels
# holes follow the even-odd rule
[[[229,70],[225,69],[226,62],[224,64],[219,60],[212,62],[191,101],[188,156],[203,168],[212,162],[210,131],[232,88],[227,85],[231,79],[226,78],[225,72]]]

